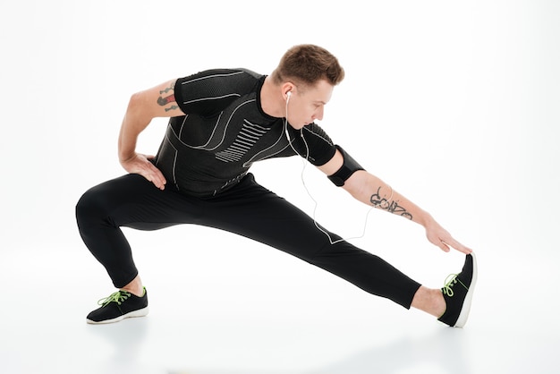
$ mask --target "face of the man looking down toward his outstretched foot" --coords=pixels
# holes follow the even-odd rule
[[[315,120],[322,120],[325,105],[330,100],[333,89],[325,80],[303,89],[296,86],[287,104],[288,123],[299,130]]]

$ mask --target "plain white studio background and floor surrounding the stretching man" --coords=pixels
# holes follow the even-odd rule
[[[366,6],[367,4],[367,6]],[[27,372],[552,372],[560,348],[560,3],[0,3],[0,368]],[[300,260],[193,226],[127,230],[146,319],[90,327],[113,292],[74,205],[123,174],[130,95],[208,68],[269,73],[295,44],[346,71],[323,128],[479,260],[471,319],[442,327]],[[165,121],[141,135],[155,153]],[[312,213],[301,160],[254,166]],[[462,256],[310,166],[318,221],[432,287]],[[538,365],[538,366],[535,366]],[[540,365],[540,366],[539,366]],[[517,371],[516,371],[517,370]]]

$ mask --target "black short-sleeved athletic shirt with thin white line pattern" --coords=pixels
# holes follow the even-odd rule
[[[154,159],[168,185],[208,198],[239,183],[252,163],[296,154],[284,118],[262,110],[265,78],[246,69],[216,69],[176,81],[175,99],[185,115],[169,120]],[[316,123],[301,131],[287,128],[293,148],[311,164],[324,165],[335,155],[335,145]]]

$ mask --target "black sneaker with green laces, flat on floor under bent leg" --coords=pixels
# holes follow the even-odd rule
[[[148,314],[148,293],[138,297],[132,293],[119,290],[109,297],[98,301],[101,308],[88,314],[88,323],[113,323],[131,317],[144,317]]]

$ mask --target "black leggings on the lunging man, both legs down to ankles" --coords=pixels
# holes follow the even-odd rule
[[[259,185],[252,174],[208,200],[171,187],[160,191],[144,177],[128,174],[86,191],[76,217],[81,238],[117,288],[138,275],[120,227],[157,230],[178,224],[216,227],[263,242],[405,308],[420,287],[378,256],[349,242],[331,244],[311,217]],[[341,239],[329,234],[334,242]]]

